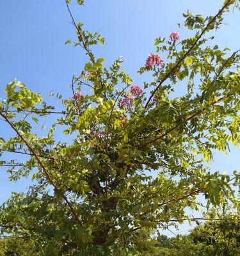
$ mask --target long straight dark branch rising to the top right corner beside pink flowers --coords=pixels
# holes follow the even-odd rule
[[[205,31],[207,31],[207,29],[210,28],[210,26],[212,25],[212,23],[218,18],[219,15],[221,15],[221,13],[223,13],[223,11],[225,10],[225,8],[227,8],[230,4],[232,0],[228,0],[227,3],[225,5],[223,5],[223,7],[219,10],[219,12],[208,22],[207,26],[205,26],[205,28],[202,30],[202,33],[200,33],[200,35],[198,36],[198,38],[196,38],[195,42],[193,43],[193,45],[191,45],[191,47],[188,49],[188,51],[184,54],[184,56],[182,56],[182,58],[180,58],[180,60],[177,62],[177,64],[170,70],[170,72],[168,72],[168,74],[166,74],[163,79],[160,81],[159,85],[156,87],[156,89],[154,90],[154,92],[152,92],[152,94],[150,95],[145,108],[147,108],[149,102],[152,100],[152,97],[154,97],[155,93],[157,92],[157,90],[160,88],[160,86],[164,83],[164,81],[166,81],[166,79],[168,79],[176,70],[177,68],[179,68],[179,66],[181,65],[182,61],[184,61],[186,59],[186,57],[188,57],[189,53],[193,50],[193,48],[195,47],[195,45],[198,43],[198,41],[200,40],[200,38],[202,38],[202,36],[204,35]]]

